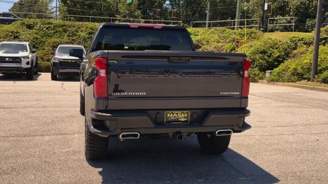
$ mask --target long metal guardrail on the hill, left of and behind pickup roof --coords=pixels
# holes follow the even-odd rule
[[[138,19],[138,18],[118,18],[118,17],[102,17],[102,16],[85,16],[85,15],[66,15],[58,14],[57,16],[52,13],[30,13],[30,12],[10,12],[14,13],[19,17],[27,15],[27,18],[38,18],[38,19],[57,19],[64,21],[89,21],[89,22],[145,22],[150,24],[171,24],[171,25],[182,25],[180,20],[153,20],[153,19]],[[24,17],[24,16],[23,16]],[[98,20],[98,21],[97,21]]]

